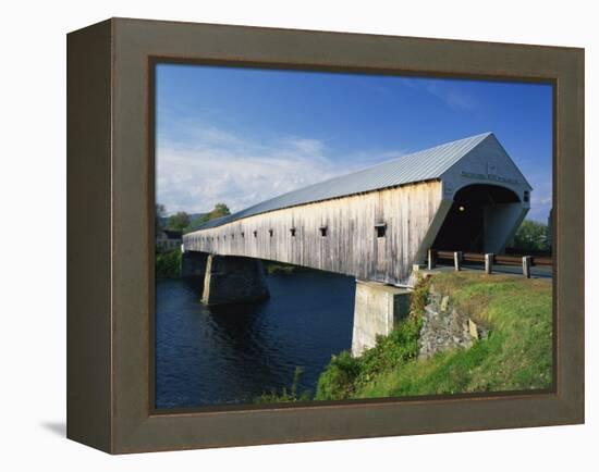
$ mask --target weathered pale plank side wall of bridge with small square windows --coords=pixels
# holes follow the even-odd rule
[[[441,183],[427,182],[307,203],[190,233],[184,246],[401,283],[409,275],[441,196]],[[380,223],[387,224],[382,238],[375,227]],[[327,227],[327,236],[320,227]]]

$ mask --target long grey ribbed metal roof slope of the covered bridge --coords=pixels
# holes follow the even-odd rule
[[[236,213],[211,220],[196,229],[220,226],[272,210],[439,178],[489,136],[492,136],[492,133],[484,133],[457,141],[445,142],[362,171],[319,182],[262,201]]]

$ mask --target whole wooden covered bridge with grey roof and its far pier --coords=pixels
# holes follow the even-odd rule
[[[402,285],[430,248],[501,252],[528,212],[530,190],[486,133],[212,220],[183,237],[183,270],[205,278],[207,303],[268,294],[260,259]]]

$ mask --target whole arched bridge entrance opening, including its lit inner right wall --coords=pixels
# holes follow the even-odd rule
[[[468,185],[455,194],[432,248],[500,252],[504,236],[513,234],[523,216],[519,198],[512,190],[498,185]]]

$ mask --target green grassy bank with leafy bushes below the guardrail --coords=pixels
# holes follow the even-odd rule
[[[412,314],[359,358],[342,352],[320,375],[315,399],[377,398],[548,388],[552,372],[551,283],[474,272],[436,275],[437,291],[490,328],[467,350],[418,360],[423,283]]]

